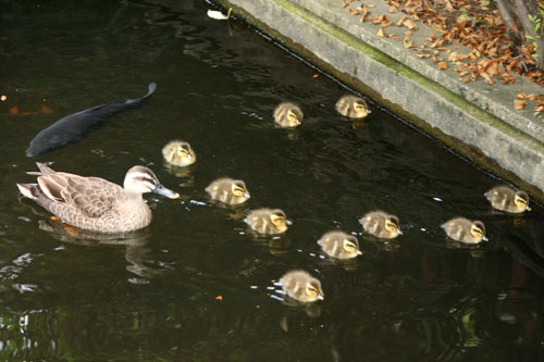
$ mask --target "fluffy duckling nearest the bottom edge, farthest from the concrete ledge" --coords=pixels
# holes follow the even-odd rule
[[[305,271],[290,271],[280,279],[283,290],[293,299],[301,302],[323,300],[321,282]]]

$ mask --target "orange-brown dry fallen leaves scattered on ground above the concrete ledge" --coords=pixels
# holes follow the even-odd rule
[[[351,15],[359,16],[361,23],[370,22],[378,26],[376,35],[391,37],[404,43],[409,51],[417,51],[418,57],[431,59],[441,70],[449,66],[459,73],[459,78],[473,82],[479,77],[487,84],[516,83],[512,74],[524,76],[529,80],[544,86],[544,74],[535,67],[531,58],[532,46],[515,47],[507,36],[507,28],[493,2],[490,0],[384,0],[390,13],[404,13],[393,23],[386,14],[373,14],[371,5],[359,0],[343,0],[344,8]],[[426,42],[416,45],[411,41],[417,23],[432,27],[435,33]],[[403,27],[403,39],[388,29],[396,25]],[[457,52],[460,47],[446,47],[459,42],[471,50],[470,53]],[[544,111],[544,95],[526,95],[521,89],[514,101],[515,109],[523,109],[528,100],[534,104],[534,116]],[[544,121],[544,120],[543,120]]]

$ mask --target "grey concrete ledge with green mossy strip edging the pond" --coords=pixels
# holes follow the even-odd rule
[[[507,86],[465,84],[455,72],[438,71],[396,40],[376,37],[375,26],[350,17],[338,0],[219,2],[396,113],[401,109],[401,115],[423,130],[542,199],[544,126],[527,116],[530,111],[512,110],[515,95]],[[418,27],[424,37],[432,32],[420,23]],[[527,93],[541,92],[536,85],[520,84],[515,87]]]

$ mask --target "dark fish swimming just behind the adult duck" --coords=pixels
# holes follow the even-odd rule
[[[41,154],[67,143],[77,142],[90,128],[102,124],[118,113],[140,105],[156,89],[157,84],[150,83],[148,93],[141,98],[97,105],[60,118],[34,137],[26,150],[26,155]]]

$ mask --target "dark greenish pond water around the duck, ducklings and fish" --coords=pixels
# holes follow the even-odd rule
[[[0,5],[1,360],[544,358],[544,212],[493,212],[482,194],[500,180],[375,104],[362,125],[343,122],[333,104],[346,89],[245,25],[208,18],[201,1]],[[55,120],[153,80],[149,107],[25,157]],[[299,129],[272,125],[284,99],[305,110]],[[162,163],[173,138],[198,154],[185,175]],[[124,239],[77,240],[40,229],[48,215],[21,202],[15,183],[36,161],[115,183],[144,164],[183,197],[147,196],[153,223]],[[225,175],[252,195],[237,212],[203,191]],[[293,227],[255,238],[239,216],[258,207],[282,208]],[[405,234],[361,234],[372,209],[397,214]],[[438,225],[455,215],[482,220],[491,241],[448,242]],[[334,228],[364,254],[323,258],[316,240]],[[282,303],[274,283],[290,269],[318,276],[325,300]]]

